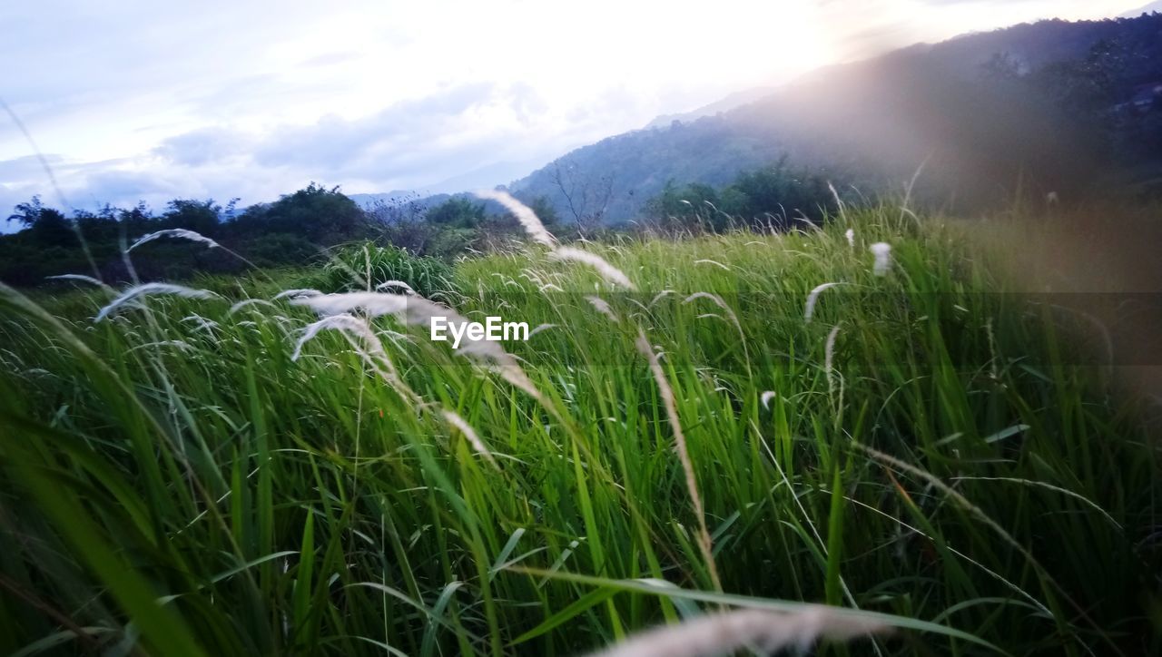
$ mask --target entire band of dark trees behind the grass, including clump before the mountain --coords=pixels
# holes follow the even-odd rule
[[[525,201],[550,231],[571,240],[600,238],[614,230],[674,234],[744,226],[788,229],[796,221],[822,221],[834,210],[835,194],[822,172],[792,169],[783,159],[745,172],[723,188],[670,181],[646,203],[639,221],[621,229],[562,219],[545,197]],[[273,203],[239,211],[236,202],[223,207],[177,198],[160,212],[139,203],[129,209],[107,205],[99,212],[74,210],[69,216],[34,197],[8,217],[22,230],[0,236],[0,280],[21,287],[40,286],[60,274],[95,273],[106,282],[134,276],[184,280],[198,273],[237,274],[251,266],[322,263],[331,259],[332,247],[347,243],[394,246],[451,261],[523,239],[519,223],[504,208],[467,195],[436,202],[396,198],[364,209],[338,187],[310,183]],[[195,231],[225,248],[158,239],[124,257],[142,236],[172,229]]]

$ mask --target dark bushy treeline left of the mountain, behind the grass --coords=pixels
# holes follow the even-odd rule
[[[237,274],[249,267],[302,267],[330,260],[337,245],[365,241],[452,260],[500,248],[521,233],[516,218],[498,204],[466,196],[437,203],[406,198],[365,210],[338,187],[313,182],[273,203],[241,211],[235,204],[177,198],[160,212],[138,203],[66,215],[34,197],[8,216],[22,230],[0,236],[0,281],[33,287],[60,274],[123,282],[134,276],[182,280],[199,273]],[[532,204],[550,230],[568,237],[568,226],[557,223],[551,207],[543,200]],[[124,257],[142,236],[172,229],[195,231],[225,248],[192,248],[188,243],[158,239]]]

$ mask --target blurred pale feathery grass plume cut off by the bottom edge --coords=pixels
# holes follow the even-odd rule
[[[803,652],[817,641],[845,642],[888,629],[868,619],[822,605],[801,612],[738,609],[697,616],[680,624],[638,633],[594,657],[711,657],[738,651]]]

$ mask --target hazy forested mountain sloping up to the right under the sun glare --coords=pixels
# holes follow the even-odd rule
[[[1074,193],[1097,182],[1093,171],[1162,153],[1162,111],[1147,111],[1156,81],[1162,15],[1019,24],[820,68],[748,102],[726,99],[724,111],[665,117],[510,189],[548,198],[566,218],[603,209],[619,222],[668,181],[722,186],[786,157],[860,189],[902,190],[926,163],[921,193],[945,205],[1007,198],[1021,185]],[[1116,111],[1129,106],[1141,116]]]

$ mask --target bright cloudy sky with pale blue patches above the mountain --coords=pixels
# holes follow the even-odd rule
[[[1145,2],[14,0],[0,100],[73,207],[452,190],[819,65]],[[60,204],[0,111],[0,210],[34,194]]]

